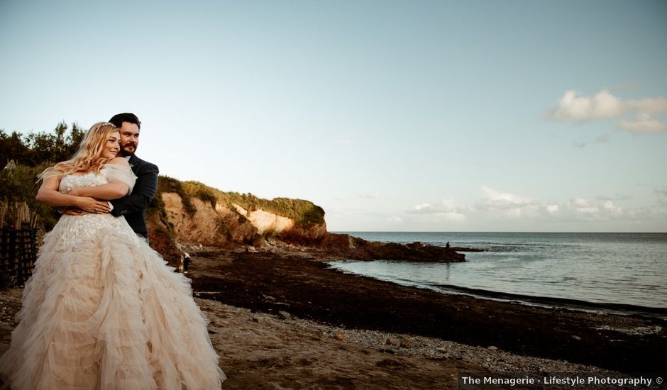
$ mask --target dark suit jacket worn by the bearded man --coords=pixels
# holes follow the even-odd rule
[[[137,177],[132,194],[123,196],[120,199],[111,201],[114,209],[111,215],[119,217],[125,216],[135,233],[148,238],[148,228],[146,228],[146,207],[150,204],[158,190],[158,174],[160,170],[157,165],[141,160],[136,155],[128,160],[132,172]]]

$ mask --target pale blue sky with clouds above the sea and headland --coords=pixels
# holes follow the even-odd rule
[[[329,230],[667,231],[665,1],[0,1],[0,128]]]

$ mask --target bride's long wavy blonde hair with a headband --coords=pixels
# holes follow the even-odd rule
[[[70,160],[58,162],[55,166],[45,169],[38,175],[38,179],[42,180],[50,176],[62,177],[76,172],[99,173],[102,165],[111,160],[111,158],[102,157],[102,152],[109,136],[116,131],[118,131],[118,128],[112,123],[95,123],[88,130],[79,145],[79,150]]]

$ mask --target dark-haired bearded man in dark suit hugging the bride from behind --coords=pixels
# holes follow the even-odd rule
[[[146,208],[158,189],[158,173],[156,165],[141,160],[135,155],[139,145],[139,128],[141,122],[133,113],[118,113],[109,119],[121,134],[121,150],[118,156],[126,157],[137,177],[132,194],[110,201],[113,206],[111,215],[125,216],[134,233],[148,242],[146,228]]]

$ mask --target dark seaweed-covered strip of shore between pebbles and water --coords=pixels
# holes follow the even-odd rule
[[[441,294],[343,274],[323,260],[308,252],[203,250],[201,273],[190,277],[202,298],[262,313],[287,311],[343,328],[494,346],[621,372],[664,370],[667,326],[661,318]]]

